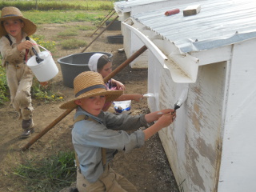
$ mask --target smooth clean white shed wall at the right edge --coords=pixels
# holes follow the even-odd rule
[[[219,191],[256,191],[256,39],[233,46]]]

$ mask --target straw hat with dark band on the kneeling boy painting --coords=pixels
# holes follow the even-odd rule
[[[63,103],[61,109],[74,109],[77,104],[75,100],[80,98],[89,98],[97,95],[105,95],[106,102],[114,101],[121,96],[122,90],[106,90],[102,75],[94,71],[86,71],[78,74],[74,78],[74,95],[75,98]]]

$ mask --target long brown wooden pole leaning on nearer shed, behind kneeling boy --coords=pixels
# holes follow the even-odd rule
[[[106,78],[104,78],[104,82],[107,82],[110,78],[113,78],[115,74],[118,74],[118,72],[120,72],[123,68],[128,66],[130,62],[133,62],[135,58],[138,58],[138,56],[141,55],[145,50],[147,50],[147,47],[142,46],[142,48],[140,48],[134,54],[132,54],[130,58],[127,58],[125,62],[122,62],[120,66],[118,66],[109,75],[107,75]],[[42,130],[40,133],[38,133],[37,135],[35,135],[34,138],[30,140],[30,142],[26,143],[26,145],[22,147],[22,150],[23,151],[28,150],[30,146],[34,144],[34,142],[37,142],[39,138],[42,138],[44,134],[46,134],[49,130],[51,130],[55,125],[58,124],[58,122],[60,122],[63,118],[65,118],[66,115],[70,114],[70,112],[74,109],[66,110],[64,113],[58,116],[58,118],[56,118],[53,122],[51,122],[49,126],[46,126],[46,128]]]

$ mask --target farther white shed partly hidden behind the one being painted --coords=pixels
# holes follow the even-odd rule
[[[166,6],[178,6],[187,2],[198,2],[199,0],[127,0],[121,2],[114,2],[114,10],[118,14],[118,20],[123,22],[134,14],[145,13],[150,10],[158,10]],[[123,39],[123,46],[126,52],[126,57],[130,58],[134,52],[143,46],[143,42],[130,30],[121,25]],[[147,50],[141,57],[130,63],[132,69],[146,69],[147,68]]]

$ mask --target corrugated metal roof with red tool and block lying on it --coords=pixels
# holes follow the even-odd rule
[[[182,10],[201,5],[197,15],[184,17]],[[166,10],[180,9],[166,16]],[[132,16],[163,38],[174,42],[183,53],[210,50],[256,38],[255,0],[206,0]]]

